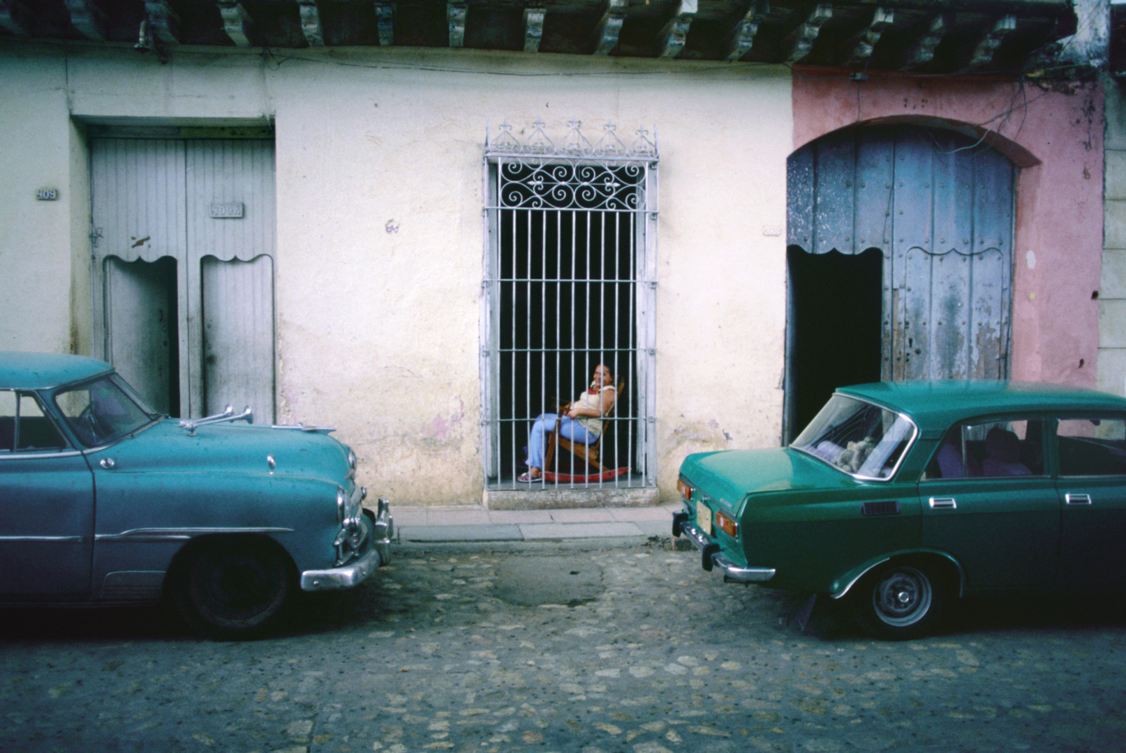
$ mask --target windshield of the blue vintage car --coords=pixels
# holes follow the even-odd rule
[[[88,447],[113,442],[158,418],[117,374],[61,390],[55,405]]]

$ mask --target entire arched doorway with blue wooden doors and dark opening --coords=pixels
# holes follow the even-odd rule
[[[1008,376],[1016,167],[1004,154],[941,128],[855,127],[803,146],[787,169],[787,441],[858,375]],[[868,250],[882,255],[878,369],[857,332],[873,326],[870,272],[829,269]],[[829,301],[833,311],[811,308]],[[843,341],[833,357],[803,354],[826,320]]]

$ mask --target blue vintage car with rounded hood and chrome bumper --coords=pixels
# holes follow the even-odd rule
[[[245,424],[234,424],[244,419]],[[331,429],[160,416],[95,359],[0,352],[0,604],[168,599],[212,637],[388,561]]]

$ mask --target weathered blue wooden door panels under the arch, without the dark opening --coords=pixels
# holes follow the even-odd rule
[[[792,251],[883,253],[882,379],[1008,376],[1015,175],[997,149],[918,126],[837,131],[789,157]]]

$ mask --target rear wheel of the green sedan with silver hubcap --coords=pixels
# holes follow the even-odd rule
[[[946,607],[946,581],[935,569],[887,563],[857,583],[852,609],[873,637],[903,641],[929,633]]]

